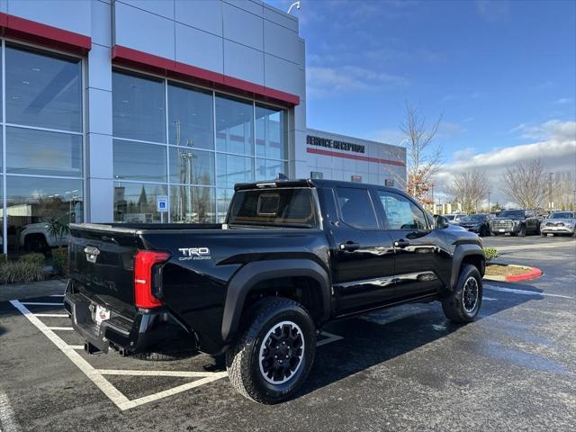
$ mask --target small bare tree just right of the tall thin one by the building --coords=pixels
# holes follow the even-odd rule
[[[484,197],[491,189],[490,181],[483,171],[456,173],[447,192],[454,202],[460,202],[467,213],[478,211]]]

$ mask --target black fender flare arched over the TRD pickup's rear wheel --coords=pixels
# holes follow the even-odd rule
[[[226,292],[222,339],[229,342],[238,329],[247,293],[258,283],[279,277],[311,277],[320,284],[322,320],[330,315],[331,284],[328,272],[310,259],[271,259],[248,263],[232,277]]]

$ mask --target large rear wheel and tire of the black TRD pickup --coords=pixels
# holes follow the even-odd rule
[[[247,311],[243,321],[242,331],[226,353],[230,383],[247,399],[259,403],[273,404],[290,398],[306,380],[316,354],[316,329],[308,311],[293,300],[266,297]],[[281,332],[274,333],[275,329],[281,329]],[[302,355],[293,354],[300,351],[298,348],[294,349],[295,345],[292,344],[286,358],[290,356],[289,362],[296,360],[293,365],[297,364],[297,367],[293,371],[286,371],[286,374],[281,375],[282,378],[278,378],[277,383],[272,383],[270,380],[274,381],[277,376],[269,371],[273,367],[282,368],[282,365],[276,363],[282,362],[272,360],[271,364],[267,364],[270,368],[268,372],[272,375],[266,375],[266,360],[263,360],[261,355],[278,348],[271,347],[270,344],[273,343],[273,337],[284,335],[284,331],[288,334],[302,334]],[[290,345],[291,343],[288,343],[285,347]],[[283,379],[287,381],[280,383]]]

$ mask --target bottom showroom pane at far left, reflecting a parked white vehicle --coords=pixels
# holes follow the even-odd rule
[[[49,237],[46,221],[63,223],[84,220],[82,180],[6,177],[8,250],[20,252],[43,245],[57,246]],[[41,248],[41,247],[40,247]]]

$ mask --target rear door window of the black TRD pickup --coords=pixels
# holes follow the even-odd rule
[[[356,229],[378,229],[376,213],[367,189],[337,187],[340,218]]]

